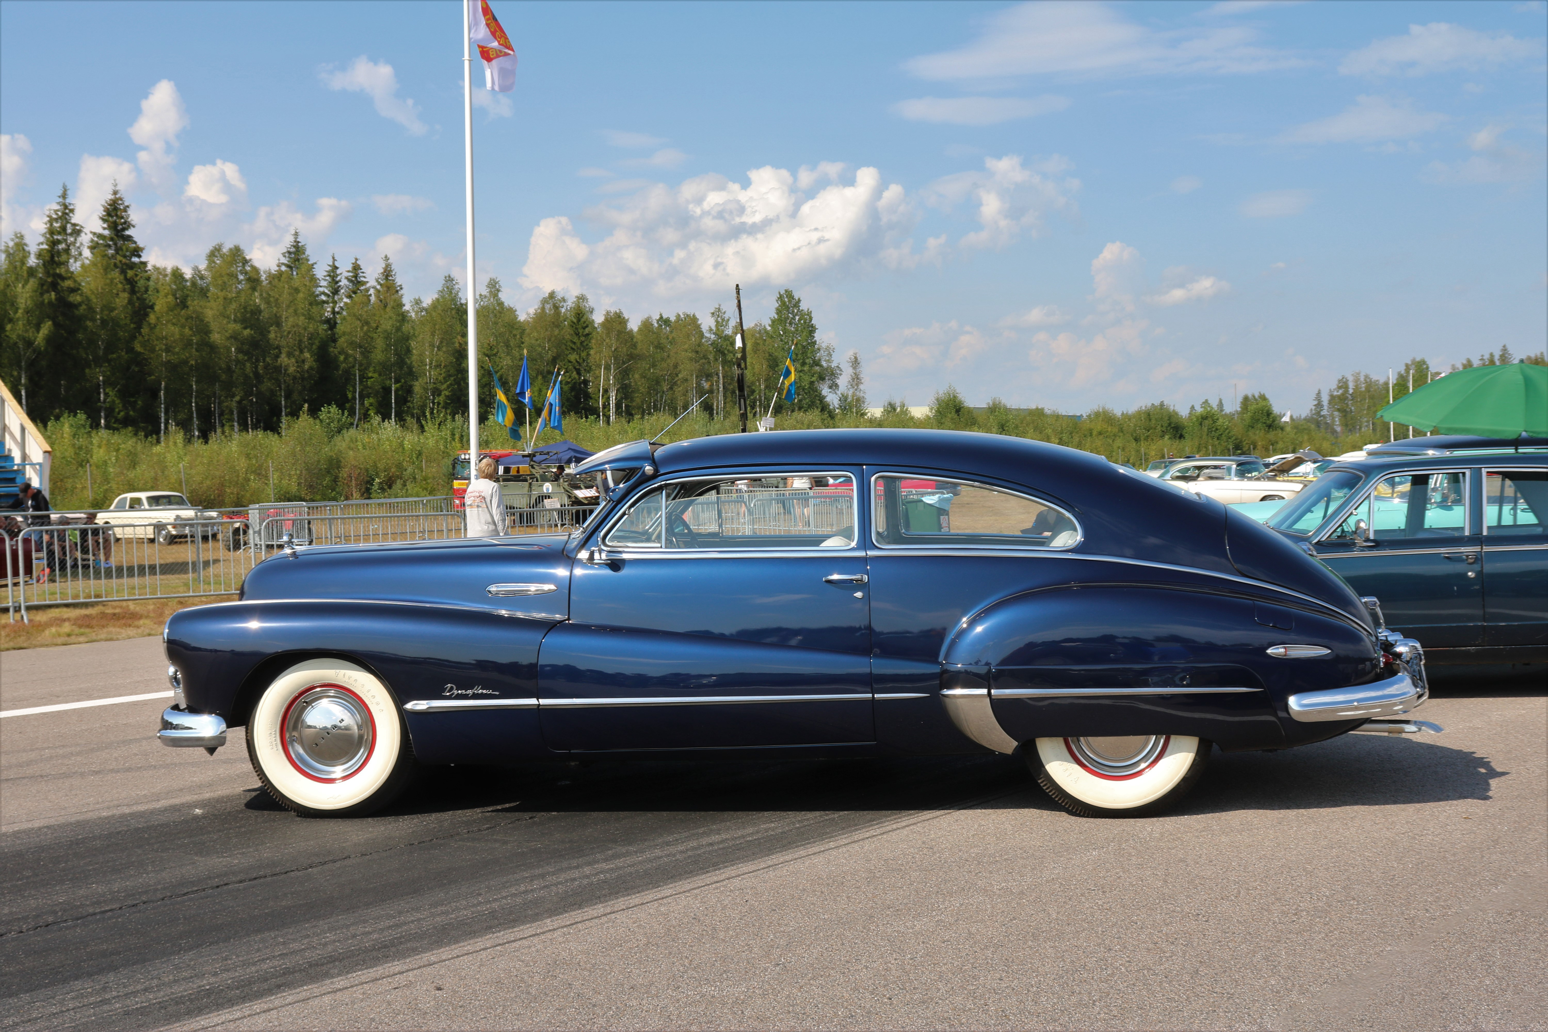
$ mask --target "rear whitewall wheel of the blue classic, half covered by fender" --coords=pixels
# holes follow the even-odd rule
[[[1039,738],[1023,747],[1043,791],[1081,817],[1150,817],[1204,774],[1214,744],[1184,735]]]

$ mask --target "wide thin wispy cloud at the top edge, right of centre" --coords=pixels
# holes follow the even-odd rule
[[[906,62],[921,79],[985,80],[1065,73],[1122,76],[1249,73],[1302,63],[1254,46],[1248,28],[1155,31],[1099,3],[1022,3],[985,19],[983,34],[954,51]]]

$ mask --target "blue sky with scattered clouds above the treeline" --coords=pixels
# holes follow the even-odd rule
[[[1313,390],[1548,339],[1543,3],[511,3],[478,279],[796,289],[872,404]],[[153,260],[463,268],[461,12],[0,3],[5,234],[118,178]]]

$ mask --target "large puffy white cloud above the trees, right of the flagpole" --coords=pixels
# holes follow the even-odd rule
[[[748,183],[703,175],[670,189],[650,184],[585,212],[610,229],[587,244],[567,217],[533,231],[522,283],[529,289],[649,291],[670,297],[732,283],[789,285],[865,261],[884,261],[907,229],[902,187],[876,169],[807,195],[796,176],[752,169]]]

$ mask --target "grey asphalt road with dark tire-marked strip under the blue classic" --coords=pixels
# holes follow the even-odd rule
[[[0,710],[164,689],[0,653]],[[1005,758],[454,769],[300,820],[161,699],[0,719],[0,1027],[1545,1029],[1542,676],[1081,820]]]

